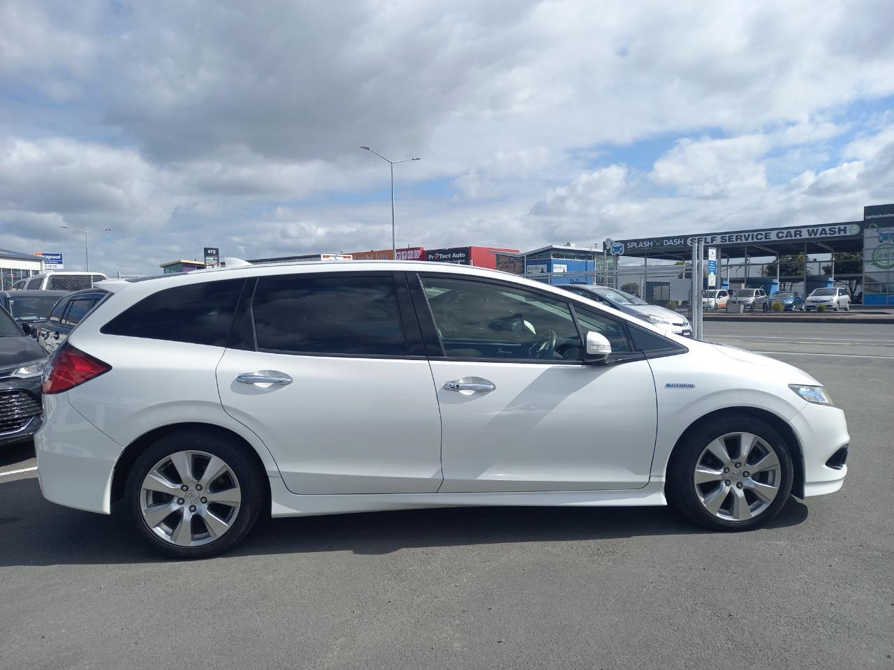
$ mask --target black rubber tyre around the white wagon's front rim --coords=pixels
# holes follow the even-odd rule
[[[772,503],[746,521],[728,521],[706,510],[696,493],[694,473],[699,456],[713,440],[735,432],[749,432],[766,442],[780,464],[780,486]],[[791,493],[794,467],[789,448],[769,423],[751,416],[719,417],[689,432],[671,455],[665,492],[668,502],[695,523],[714,531],[748,531],[770,521],[785,506]]]

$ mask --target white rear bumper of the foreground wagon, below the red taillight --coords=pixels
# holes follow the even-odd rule
[[[46,419],[34,437],[44,498],[87,512],[111,512],[112,474],[120,444],[72,407],[65,394],[44,397]]]

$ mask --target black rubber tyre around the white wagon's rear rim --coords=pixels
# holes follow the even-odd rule
[[[229,529],[219,538],[199,546],[177,546],[159,537],[144,521],[141,509],[140,490],[149,471],[165,456],[180,451],[201,451],[221,458],[235,475],[240,490],[240,504],[229,519]],[[131,527],[152,549],[173,558],[207,558],[232,548],[249,533],[261,510],[266,507],[268,496],[266,473],[255,457],[247,453],[244,445],[217,431],[196,428],[166,435],[139,455],[127,476],[123,507]],[[207,507],[210,506],[211,503]]]

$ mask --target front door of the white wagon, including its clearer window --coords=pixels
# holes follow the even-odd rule
[[[441,491],[645,486],[654,381],[623,322],[507,281],[422,273],[410,285],[432,348]],[[610,339],[609,364],[582,362],[587,330]]]

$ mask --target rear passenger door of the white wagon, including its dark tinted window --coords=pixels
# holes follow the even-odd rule
[[[289,490],[438,489],[441,417],[402,274],[265,276],[240,312],[243,336],[217,366],[221,400]]]

